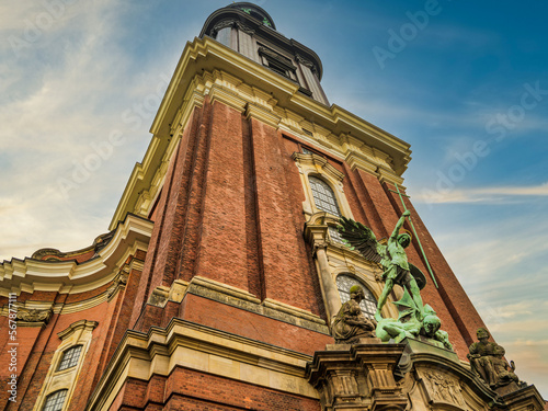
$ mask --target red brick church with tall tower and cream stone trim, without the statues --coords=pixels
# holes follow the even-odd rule
[[[110,232],[83,250],[0,265],[0,326],[13,301],[20,342],[19,402],[2,392],[1,407],[496,409],[464,365],[486,326],[406,195],[409,144],[330,104],[321,78],[317,54],[262,8],[209,15],[184,47]],[[339,218],[386,239],[406,209],[407,255],[454,347],[437,364],[463,367],[447,378],[473,386],[443,401],[426,383],[408,399],[411,368],[392,376],[404,344],[333,349],[331,321],[350,288],[364,289],[373,319],[384,287],[379,264],[343,243]],[[401,297],[395,287],[383,317],[398,318]],[[384,364],[392,386],[370,388],[376,366],[359,374],[356,361]],[[328,363],[354,365],[329,374]],[[527,398],[541,410],[538,392]],[[358,400],[369,408],[340,407]]]

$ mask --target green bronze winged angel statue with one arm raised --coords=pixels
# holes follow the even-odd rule
[[[410,215],[411,213],[409,210],[402,214],[386,246],[377,242],[373,231],[363,224],[345,217],[341,217],[340,219],[341,226],[339,226],[339,231],[346,242],[354,249],[357,249],[367,260],[381,264],[385,270],[383,273],[385,287],[379,297],[377,312],[375,313],[375,319],[377,321],[383,319],[380,310],[385,306],[388,295],[392,290],[395,284],[398,284],[409,292],[415,307],[419,309],[419,320],[422,320],[424,317],[421,292],[415,278],[411,275],[408,256],[406,254],[406,248],[411,243],[411,236],[407,232],[400,233],[406,217]]]

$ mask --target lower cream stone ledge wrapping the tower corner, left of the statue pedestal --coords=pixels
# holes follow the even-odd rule
[[[317,399],[305,379],[312,358],[279,346],[172,319],[165,329],[127,331],[85,410],[109,410],[129,378],[169,376],[175,367]]]

